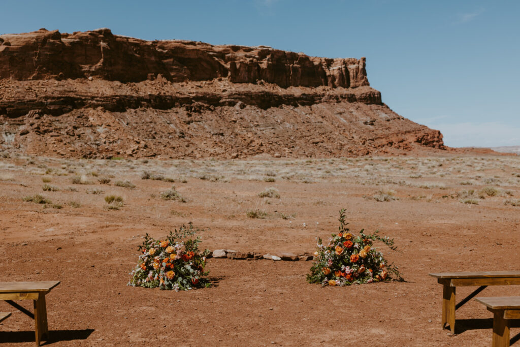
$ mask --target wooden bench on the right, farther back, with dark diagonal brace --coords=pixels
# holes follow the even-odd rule
[[[449,272],[430,274],[443,285],[443,315],[442,326],[450,326],[451,333],[455,333],[455,311],[470,301],[475,295],[487,286],[520,285],[520,271],[482,271],[482,272]],[[455,289],[457,287],[480,286],[460,303],[455,303]]]

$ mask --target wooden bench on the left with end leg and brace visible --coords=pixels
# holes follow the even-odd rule
[[[11,306],[16,307],[34,319],[34,333],[36,335],[37,346],[40,345],[43,336],[45,336],[47,340],[49,338],[45,295],[59,284],[59,281],[0,282],[0,300],[5,300]],[[33,300],[34,313],[26,310],[23,306],[20,306],[12,300]]]

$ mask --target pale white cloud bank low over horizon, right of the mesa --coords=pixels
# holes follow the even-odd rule
[[[520,126],[500,123],[427,123],[440,130],[450,147],[500,147],[520,145]]]

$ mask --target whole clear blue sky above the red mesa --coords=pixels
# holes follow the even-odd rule
[[[520,1],[3,0],[0,33],[110,28],[147,40],[367,57],[370,84],[449,146],[520,145]]]

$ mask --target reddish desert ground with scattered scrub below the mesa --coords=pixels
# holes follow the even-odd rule
[[[455,335],[440,328],[428,273],[520,268],[520,157],[115,159],[0,158],[0,281],[61,281],[48,344],[487,346],[492,315],[474,300]],[[209,259],[211,288],[126,285],[146,233],[192,222],[210,250],[312,253],[342,208],[352,232],[395,239],[377,246],[405,282],[322,288],[306,282],[310,261]],[[2,345],[34,345],[32,320],[0,311]],[[519,321],[511,336],[520,345]]]

